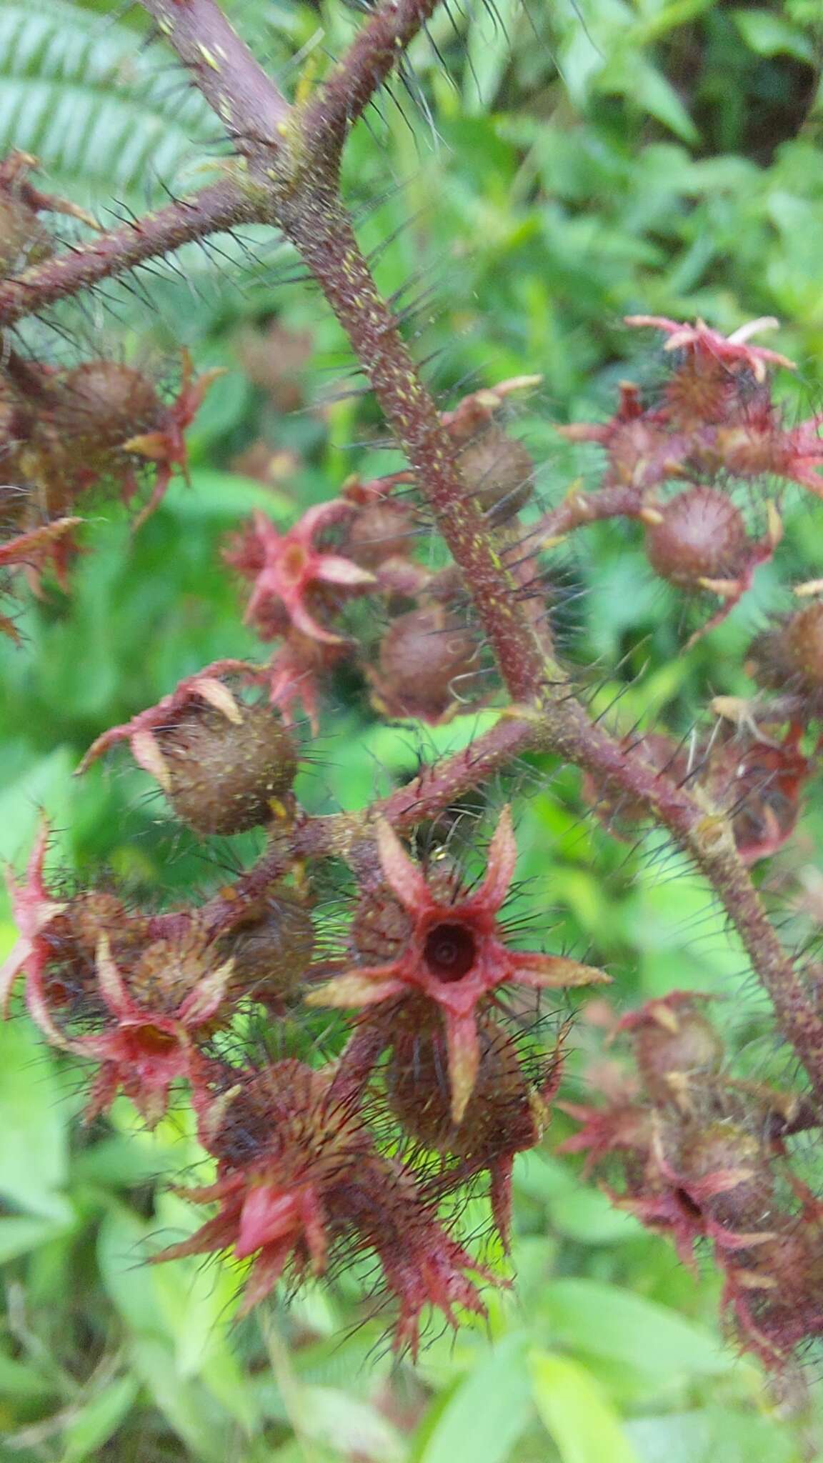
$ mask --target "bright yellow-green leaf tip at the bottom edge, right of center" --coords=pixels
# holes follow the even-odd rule
[[[533,1352],[532,1396],[562,1463],[640,1463],[597,1383],[567,1356]]]

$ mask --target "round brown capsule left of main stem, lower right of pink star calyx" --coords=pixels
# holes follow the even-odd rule
[[[370,674],[379,707],[394,717],[442,721],[455,707],[454,682],[474,669],[476,650],[474,638],[442,604],[400,614]]]

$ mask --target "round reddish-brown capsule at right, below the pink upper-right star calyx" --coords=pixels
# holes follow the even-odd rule
[[[669,584],[700,590],[701,579],[735,579],[750,556],[742,514],[715,487],[690,487],[646,528],[649,563]]]

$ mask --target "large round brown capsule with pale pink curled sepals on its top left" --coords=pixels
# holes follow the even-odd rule
[[[272,818],[297,772],[294,743],[265,702],[240,705],[240,721],[196,707],[155,733],[167,796],[177,816],[201,834],[233,834]]]

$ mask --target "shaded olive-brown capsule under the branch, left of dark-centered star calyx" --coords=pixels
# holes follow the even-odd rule
[[[218,941],[220,958],[234,960],[231,989],[275,1011],[293,998],[310,966],[315,926],[294,894],[281,890],[247,910]]]

